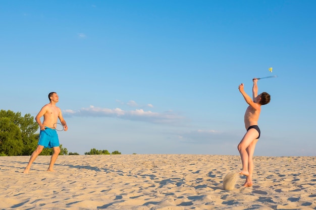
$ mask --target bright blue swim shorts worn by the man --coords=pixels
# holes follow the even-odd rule
[[[44,148],[59,147],[59,139],[55,129],[45,127],[45,130],[40,130],[38,145]]]

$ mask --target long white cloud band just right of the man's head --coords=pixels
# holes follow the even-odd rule
[[[65,116],[77,117],[116,117],[125,120],[145,121],[151,123],[166,123],[166,124],[179,124],[185,119],[172,111],[168,112],[152,112],[143,109],[135,110],[122,110],[121,108],[109,109],[90,106],[88,108],[81,108],[80,110],[64,110]]]

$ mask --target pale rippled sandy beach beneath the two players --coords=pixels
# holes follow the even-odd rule
[[[223,189],[239,156],[0,157],[0,209],[316,209],[315,157],[255,157],[252,187]]]

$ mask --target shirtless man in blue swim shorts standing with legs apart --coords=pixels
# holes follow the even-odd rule
[[[32,163],[35,161],[37,156],[45,148],[52,148],[53,154],[50,158],[50,163],[47,171],[54,171],[52,167],[54,166],[59,153],[61,152],[59,147],[59,139],[57,132],[54,128],[54,123],[57,122],[58,118],[64,126],[64,130],[67,131],[68,127],[66,121],[63,118],[62,111],[56,106],[59,98],[57,93],[51,92],[48,94],[49,104],[44,105],[35,117],[36,122],[40,127],[38,145],[36,150],[32,153],[29,163],[24,169],[23,173],[28,173]],[[41,123],[40,118],[44,116],[43,123]]]

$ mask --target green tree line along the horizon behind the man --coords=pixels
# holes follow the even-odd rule
[[[0,110],[0,156],[29,156],[37,147],[39,126],[30,114]],[[68,153],[67,148],[60,145],[60,155],[79,155]],[[120,155],[114,151],[112,155]],[[85,155],[111,155],[107,150],[91,149]],[[40,155],[52,155],[52,149],[44,148]]]

